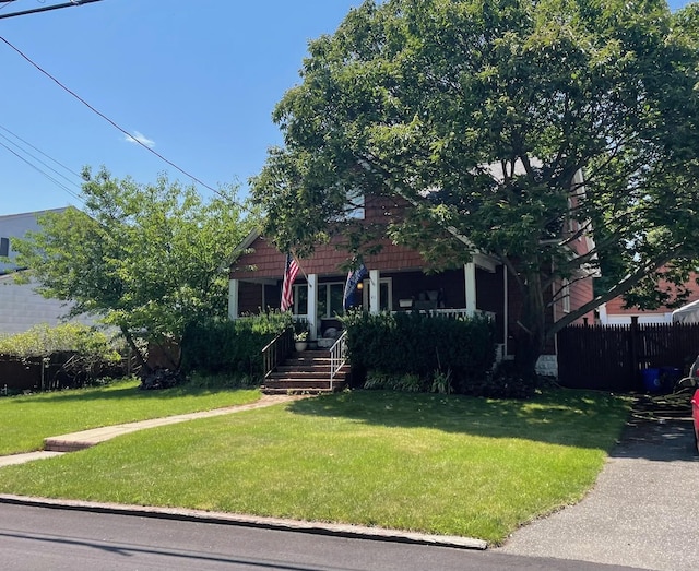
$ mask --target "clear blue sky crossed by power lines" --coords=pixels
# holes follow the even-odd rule
[[[0,15],[63,2],[15,0],[0,3]],[[334,32],[360,3],[103,0],[0,20],[0,37],[205,185],[245,189],[266,150],[281,143],[271,112],[298,83],[308,40]],[[673,9],[687,3],[670,2]],[[191,181],[4,41],[0,69],[0,215],[80,206],[75,174],[84,165],[105,165],[139,182],[161,173]]]

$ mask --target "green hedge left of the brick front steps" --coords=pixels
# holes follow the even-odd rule
[[[192,324],[182,340],[182,371],[261,378],[262,349],[291,325],[291,314],[280,312]]]

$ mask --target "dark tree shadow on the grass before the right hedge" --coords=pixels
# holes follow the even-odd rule
[[[297,401],[287,409],[387,427],[526,439],[609,452],[619,439],[629,406],[629,398],[561,389],[529,401],[353,391]]]

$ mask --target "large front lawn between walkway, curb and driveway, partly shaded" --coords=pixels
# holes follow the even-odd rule
[[[628,400],[355,391],[2,468],[0,492],[346,522],[501,543],[578,501]]]

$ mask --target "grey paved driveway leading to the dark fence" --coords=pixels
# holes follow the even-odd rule
[[[497,550],[660,571],[699,569],[699,456],[691,420],[686,412],[639,413],[580,503],[522,527]]]

